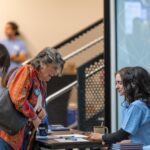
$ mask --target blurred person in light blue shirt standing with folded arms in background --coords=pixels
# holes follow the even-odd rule
[[[23,40],[19,38],[19,27],[15,22],[8,22],[5,26],[6,39],[0,43],[8,49],[11,58],[10,69],[19,66],[27,59],[27,49]]]

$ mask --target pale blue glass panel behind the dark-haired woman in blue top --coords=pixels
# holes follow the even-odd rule
[[[116,0],[117,70],[142,66],[150,71],[150,0]],[[118,114],[120,127],[120,105]]]

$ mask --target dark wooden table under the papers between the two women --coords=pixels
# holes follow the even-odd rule
[[[61,134],[84,134],[88,135],[87,132],[81,132],[77,130],[70,130],[70,131],[55,131],[52,132],[53,135],[61,135]],[[35,141],[35,149],[40,150],[40,148],[48,148],[48,149],[85,149],[85,148],[101,148],[102,144],[100,141],[86,141],[86,142],[58,142],[56,140],[36,140]]]

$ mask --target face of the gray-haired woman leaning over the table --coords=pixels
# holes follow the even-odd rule
[[[59,67],[56,64],[41,64],[39,70],[39,78],[42,81],[49,81],[52,77],[58,75]]]

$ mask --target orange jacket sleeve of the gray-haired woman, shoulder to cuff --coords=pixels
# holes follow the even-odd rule
[[[37,115],[34,112],[33,106],[28,101],[29,91],[32,85],[30,74],[28,65],[21,67],[17,71],[8,90],[16,109],[27,118],[34,119]]]

